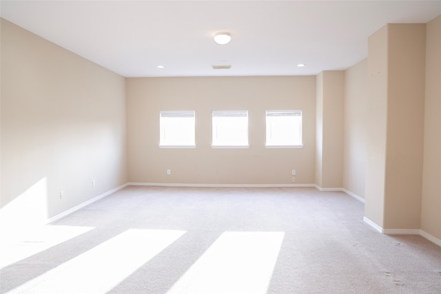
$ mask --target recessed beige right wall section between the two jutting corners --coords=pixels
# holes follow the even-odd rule
[[[365,198],[367,156],[367,59],[345,70],[343,188]]]

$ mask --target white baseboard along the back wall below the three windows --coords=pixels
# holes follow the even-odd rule
[[[271,188],[271,187],[315,187],[314,184],[187,184],[176,182],[128,182],[127,186],[161,187],[219,187],[219,188]]]

